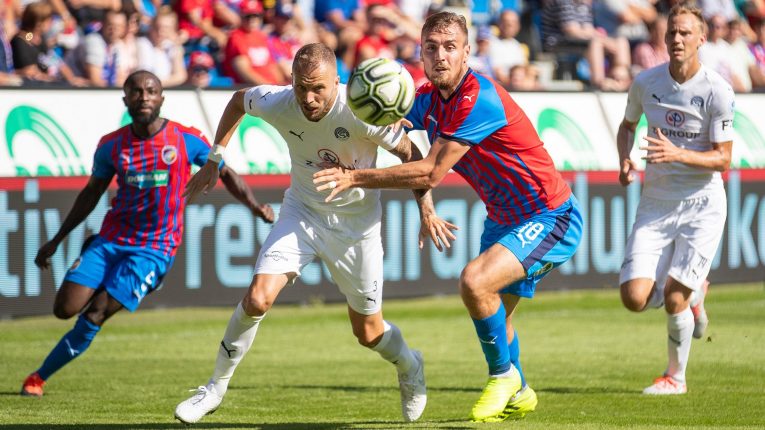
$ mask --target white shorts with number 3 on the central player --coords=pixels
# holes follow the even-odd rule
[[[255,273],[299,276],[303,267],[319,257],[351,309],[363,315],[377,313],[382,308],[383,287],[380,221],[377,216],[376,222],[360,225],[360,218],[322,216],[285,198],[260,250]]]

